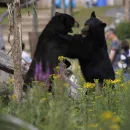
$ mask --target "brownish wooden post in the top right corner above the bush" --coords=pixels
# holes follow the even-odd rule
[[[125,0],[125,19],[130,20],[130,0]]]

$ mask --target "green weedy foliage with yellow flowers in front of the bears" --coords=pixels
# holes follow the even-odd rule
[[[79,69],[75,70],[81,85],[78,99],[68,96],[69,85],[55,75],[54,95],[47,92],[44,83],[34,82],[22,102],[16,102],[15,95],[10,95],[8,105],[0,100],[0,113],[18,117],[39,130],[127,130],[130,82],[121,78],[122,71],[116,72],[116,80],[105,81],[105,87],[100,89],[97,81],[85,83]]]

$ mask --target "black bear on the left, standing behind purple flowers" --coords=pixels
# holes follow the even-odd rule
[[[65,56],[67,50],[67,46],[60,43],[57,33],[67,35],[72,32],[72,27],[79,27],[79,23],[72,16],[55,13],[39,37],[32,63],[24,78],[24,91],[28,86],[31,87],[32,80],[47,81],[51,91],[49,76],[54,74],[54,68],[58,66],[58,57]],[[65,64],[68,67],[70,65],[67,60]]]

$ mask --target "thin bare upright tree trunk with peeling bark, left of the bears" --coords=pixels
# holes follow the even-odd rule
[[[21,11],[20,11],[20,0],[14,0],[14,44],[12,46],[12,56],[14,63],[14,94],[16,94],[17,99],[22,98],[22,64],[21,64]]]

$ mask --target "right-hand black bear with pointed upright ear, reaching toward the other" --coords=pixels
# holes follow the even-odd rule
[[[91,18],[85,22],[82,34],[73,36],[61,35],[63,43],[68,45],[68,55],[77,58],[83,76],[87,82],[99,79],[115,79],[115,73],[107,52],[104,28],[106,24],[96,18],[92,12]],[[70,57],[71,58],[71,57]]]

